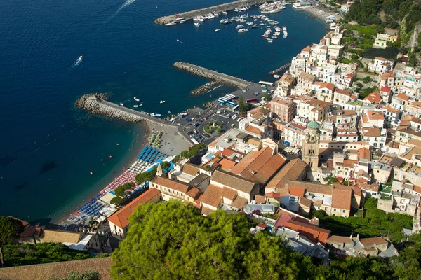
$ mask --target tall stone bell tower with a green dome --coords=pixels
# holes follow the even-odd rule
[[[314,120],[305,129],[305,139],[302,140],[302,161],[309,165],[312,172],[319,167],[320,126]]]

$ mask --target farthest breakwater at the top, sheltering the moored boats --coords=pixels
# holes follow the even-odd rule
[[[267,0],[239,0],[229,3],[223,3],[217,6],[211,6],[208,8],[201,8],[199,10],[191,10],[189,12],[178,13],[177,18],[185,18],[185,20],[191,20],[192,18],[198,17],[199,15],[207,15],[208,13],[220,13],[225,10],[234,10],[234,8],[241,8],[244,6],[251,6],[255,4],[269,2]],[[168,22],[173,22],[175,15],[166,15],[161,18],[157,18],[155,23],[157,25],[165,25]]]

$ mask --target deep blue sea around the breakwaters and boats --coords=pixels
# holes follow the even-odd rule
[[[44,222],[60,216],[98,193],[141,150],[142,126],[74,108],[81,94],[106,92],[126,106],[139,97],[142,110],[177,113],[232,87],[192,96],[206,80],[174,62],[274,81],[268,71],[326,34],[322,20],[291,6],[270,15],[288,29],[288,38],[273,43],[261,37],[265,29],[238,34],[235,25],[220,25],[222,15],[200,27],[154,25],[162,15],[220,3],[0,1],[0,215]],[[80,55],[83,62],[72,67]]]

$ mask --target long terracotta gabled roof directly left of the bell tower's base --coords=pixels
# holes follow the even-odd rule
[[[291,160],[267,183],[267,188],[283,188],[288,181],[297,180],[305,169],[307,169],[307,163],[300,158]]]

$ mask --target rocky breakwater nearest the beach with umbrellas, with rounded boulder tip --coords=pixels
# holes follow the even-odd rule
[[[125,108],[119,107],[116,104],[107,102],[107,95],[103,93],[85,94],[76,100],[75,105],[78,108],[85,109],[91,113],[98,113],[109,118],[117,118],[131,123],[139,123],[144,118],[131,113]]]

